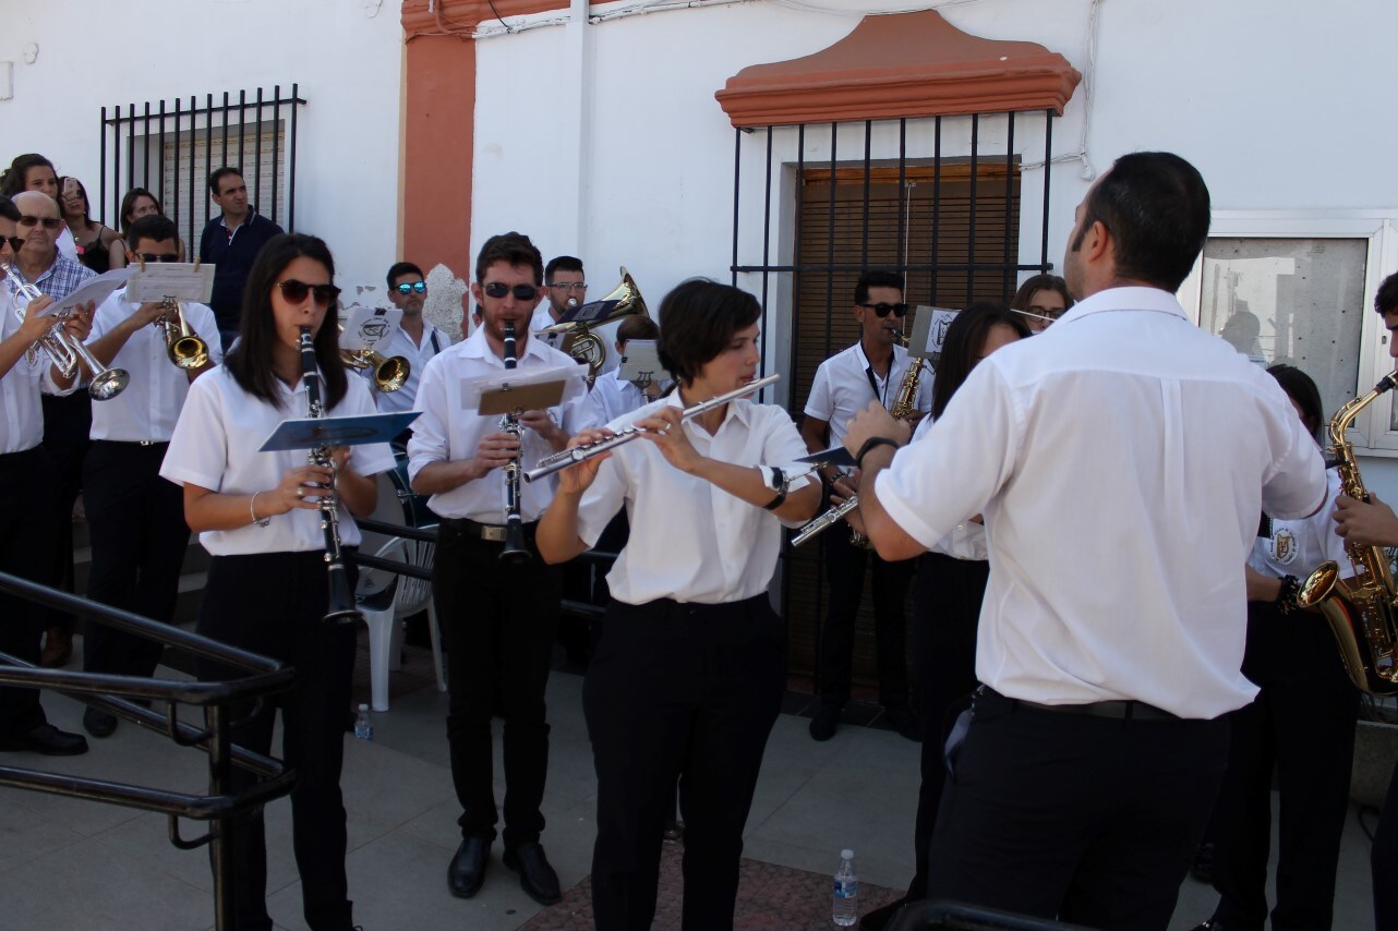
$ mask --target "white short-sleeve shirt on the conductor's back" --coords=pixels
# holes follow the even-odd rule
[[[984,359],[877,481],[932,547],[984,513],[976,675],[1043,703],[1248,703],[1258,514],[1314,513],[1324,463],[1281,386],[1153,288],[1096,294]]]

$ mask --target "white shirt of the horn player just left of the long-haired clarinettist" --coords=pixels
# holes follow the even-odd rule
[[[103,301],[92,315],[88,344],[109,334],[136,313],[138,306],[127,302],[126,288]],[[222,362],[224,349],[214,312],[203,303],[186,303],[185,320],[190,331],[208,344],[208,358],[214,363]],[[171,362],[165,349],[165,331],[148,324],[133,333],[117,349],[112,368],[126,369],[130,382],[116,397],[92,405],[91,438],[126,443],[169,440],[180,408],[185,407],[190,380],[185,369]]]

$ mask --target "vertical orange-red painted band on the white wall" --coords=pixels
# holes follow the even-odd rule
[[[398,257],[470,281],[475,42],[419,35],[405,57]]]

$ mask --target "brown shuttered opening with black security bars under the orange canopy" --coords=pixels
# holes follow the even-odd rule
[[[1053,268],[1054,119],[1050,109],[735,131],[733,284],[762,302],[763,368],[774,359],[788,375],[793,415],[819,363],[858,340],[861,271],[902,273],[911,305],[966,308],[1008,303],[1022,273]],[[815,667],[822,575],[819,547],[787,549],[794,672]],[[856,642],[854,674],[864,681],[875,678],[868,605]]]

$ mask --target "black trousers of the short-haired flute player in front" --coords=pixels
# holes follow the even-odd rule
[[[733,928],[742,828],[784,688],[786,630],[765,594],[717,605],[612,601],[583,684],[598,931],[650,927],[677,779],[684,928]]]

